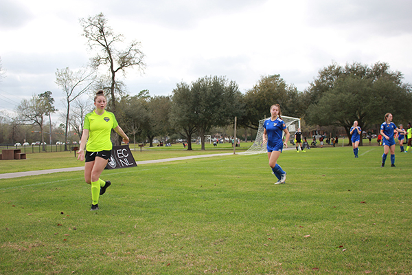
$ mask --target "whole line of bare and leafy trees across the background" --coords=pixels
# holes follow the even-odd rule
[[[135,142],[148,140],[152,146],[155,137],[179,135],[187,140],[188,150],[192,149],[194,135],[201,137],[204,149],[205,135],[214,127],[233,124],[235,117],[240,127],[258,129],[259,120],[269,115],[269,107],[275,103],[280,104],[284,115],[301,118],[312,126],[342,126],[348,136],[354,120],[362,129],[371,129],[383,122],[387,112],[393,113],[396,124],[411,121],[411,85],[403,82],[401,72],[393,72],[389,64],[380,62],[370,66],[332,63],[319,70],[305,91],[298,91],[274,74],[261,76],[244,94],[235,81],[225,76],[204,76],[192,83],[177,83],[170,96],[150,96],[147,90],[130,95],[125,92],[124,83],[117,80],[117,74],[125,74],[126,69],[134,67],[144,70],[146,64],[139,43],[132,41],[124,46],[124,37],[113,32],[103,14],[80,19],[80,24],[94,56],[91,64],[77,71],[68,67],[56,71],[56,84],[66,98],[62,118],[65,123],[60,125],[65,141],[69,128],[81,134],[84,115],[93,107],[80,100],[80,96],[93,94],[97,89],[106,92],[108,111],[115,113]],[[107,74],[98,76],[98,69]],[[50,91],[23,100],[16,109],[16,119],[0,117],[2,129],[31,123],[43,133],[45,118],[58,111],[53,103]],[[50,133],[51,125],[49,121]],[[14,142],[14,131],[1,132],[0,135],[4,134],[0,143]]]

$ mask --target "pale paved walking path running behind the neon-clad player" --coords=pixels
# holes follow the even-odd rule
[[[209,155],[190,155],[187,157],[172,157],[170,159],[153,159],[153,160],[144,160],[141,162],[136,162],[137,165],[139,164],[154,164],[160,162],[174,162],[176,160],[184,160],[184,159],[198,159],[201,157],[216,157],[220,155],[233,155],[233,153],[220,153],[220,154],[209,154]],[[26,171],[26,172],[16,172],[16,173],[5,173],[0,174],[0,179],[12,179],[14,177],[26,177],[26,176],[34,176],[34,175],[43,175],[43,174],[51,174],[51,173],[58,173],[58,172],[72,172],[72,171],[80,171],[84,170],[84,166],[78,167],[69,167],[69,168],[58,168],[58,169],[47,169],[47,170],[35,170],[35,171]]]

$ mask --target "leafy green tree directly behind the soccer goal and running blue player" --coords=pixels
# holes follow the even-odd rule
[[[301,93],[288,85],[279,74],[262,76],[257,84],[244,95],[245,113],[239,123],[251,129],[259,128],[259,120],[269,115],[273,104],[279,104],[283,115],[300,118],[304,113]]]

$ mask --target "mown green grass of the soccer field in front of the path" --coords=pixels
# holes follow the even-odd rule
[[[96,212],[82,172],[0,179],[0,274],[412,274],[396,150],[284,151],[278,186],[265,154],[105,170]]]

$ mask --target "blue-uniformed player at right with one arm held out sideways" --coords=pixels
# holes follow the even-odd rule
[[[385,166],[385,161],[391,151],[391,167],[395,167],[395,139],[393,138],[393,133],[397,131],[398,133],[405,134],[404,130],[398,129],[395,123],[392,122],[393,116],[391,113],[385,114],[385,122],[380,125],[380,134],[382,135],[382,145],[383,145],[383,155],[382,155],[382,165]]]

